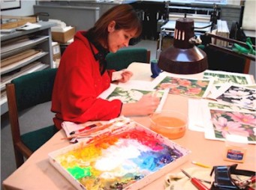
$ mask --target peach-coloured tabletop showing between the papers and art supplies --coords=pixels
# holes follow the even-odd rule
[[[152,80],[150,65],[143,63],[132,63],[128,67],[134,73],[131,79],[136,80]],[[200,78],[203,74],[186,75],[188,77]],[[168,94],[163,109],[175,109],[188,114],[188,97]],[[143,126],[149,126],[149,117],[132,117],[135,121]],[[9,189],[74,189],[74,186],[66,180],[56,168],[50,164],[48,153],[59,150],[62,147],[68,146],[68,140],[61,140],[65,137],[65,132],[60,130],[40,147],[26,162],[14,171],[11,176],[3,181],[3,188]],[[224,141],[208,140],[204,138],[203,132],[187,130],[182,138],[173,140],[176,144],[191,150],[189,159],[184,164],[170,171],[170,173],[180,172],[181,168],[196,167],[191,162],[197,161],[206,165],[233,165],[234,162],[227,162],[222,159],[224,151]],[[247,145],[247,155],[244,163],[239,163],[239,169],[254,170],[256,168],[256,148],[254,144]],[[166,176],[161,176],[158,180],[153,181],[143,189],[147,190],[164,190],[164,179]]]

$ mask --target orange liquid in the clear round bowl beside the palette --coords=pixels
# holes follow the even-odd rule
[[[185,135],[185,121],[177,117],[155,117],[151,129],[170,139],[181,138]]]

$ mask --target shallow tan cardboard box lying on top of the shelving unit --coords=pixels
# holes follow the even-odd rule
[[[27,22],[35,23],[37,18],[35,16],[1,16],[2,29],[17,28],[26,25]]]

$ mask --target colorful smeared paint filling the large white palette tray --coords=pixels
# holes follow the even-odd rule
[[[183,156],[158,134],[125,126],[54,157],[85,189],[125,189]]]

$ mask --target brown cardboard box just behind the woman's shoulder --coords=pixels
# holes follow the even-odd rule
[[[74,37],[75,33],[76,33],[76,29],[74,27],[64,32],[52,31],[52,39],[53,41],[56,41],[59,43],[66,43],[68,42],[68,40],[71,40]]]

